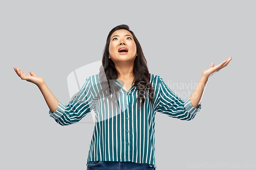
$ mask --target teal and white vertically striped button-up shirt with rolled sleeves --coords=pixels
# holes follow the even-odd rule
[[[181,100],[158,75],[151,74],[149,82],[155,91],[156,105],[152,104],[149,98],[145,98],[144,105],[138,109],[137,87],[133,84],[130,90],[126,91],[116,80],[120,95],[119,112],[115,112],[109,100],[104,103],[103,98],[97,99],[101,85],[99,76],[93,75],[87,78],[68,105],[65,106],[59,101],[57,110],[54,113],[49,111],[49,114],[59,125],[67,126],[79,122],[91,110],[95,112],[88,161],[132,161],[157,167],[156,112],[181,120],[191,120],[200,111],[201,103],[198,108],[194,108],[190,99]]]

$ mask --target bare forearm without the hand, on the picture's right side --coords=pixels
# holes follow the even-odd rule
[[[201,79],[200,79],[199,83],[197,84],[196,89],[190,96],[190,102],[191,102],[192,106],[195,108],[198,108],[198,106],[201,102],[207,81],[208,81],[208,78],[201,76]]]

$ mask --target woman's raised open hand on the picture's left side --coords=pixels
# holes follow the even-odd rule
[[[38,77],[35,75],[33,71],[30,71],[30,75],[27,75],[26,73],[22,72],[22,70],[19,67],[13,67],[16,74],[20,77],[22,80],[27,80],[28,82],[34,83],[38,87],[45,83],[45,80],[41,77]]]

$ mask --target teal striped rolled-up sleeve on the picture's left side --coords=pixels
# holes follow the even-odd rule
[[[65,106],[59,101],[57,110],[55,112],[49,110],[49,115],[61,126],[77,123],[91,111],[91,99],[91,79],[89,77],[68,105]]]

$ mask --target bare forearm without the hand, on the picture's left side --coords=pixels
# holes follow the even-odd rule
[[[51,110],[51,112],[55,112],[57,110],[57,107],[59,105],[59,101],[55,98],[51,90],[47,87],[46,83],[42,83],[42,85],[38,86],[40,89],[42,95],[45,98],[45,101]]]

